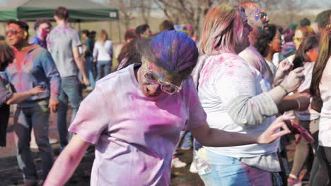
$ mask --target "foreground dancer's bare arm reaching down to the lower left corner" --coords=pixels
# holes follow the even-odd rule
[[[55,161],[47,175],[44,186],[64,185],[74,174],[89,146],[90,143],[83,141],[79,135],[74,135],[66,148],[57,157],[57,161]]]

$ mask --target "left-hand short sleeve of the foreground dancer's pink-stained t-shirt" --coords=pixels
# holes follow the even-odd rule
[[[81,102],[79,111],[69,127],[70,132],[75,132],[85,142],[95,144],[100,135],[107,130],[109,124],[108,106],[101,89],[97,86]]]

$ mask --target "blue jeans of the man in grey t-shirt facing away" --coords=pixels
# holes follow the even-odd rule
[[[59,110],[57,111],[57,130],[59,131],[59,140],[62,147],[68,144],[68,125],[66,124],[66,113],[68,111],[68,104],[71,102],[72,114],[71,121],[74,120],[79,105],[82,100],[81,82],[77,76],[62,77],[62,89],[59,94]],[[72,134],[70,134],[71,138]]]

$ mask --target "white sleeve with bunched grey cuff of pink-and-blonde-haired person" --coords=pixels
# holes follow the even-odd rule
[[[277,105],[267,92],[257,95],[260,82],[245,61],[224,62],[223,73],[215,77],[216,94],[238,125],[260,125],[265,118],[278,113]],[[228,64],[228,65],[227,65]]]

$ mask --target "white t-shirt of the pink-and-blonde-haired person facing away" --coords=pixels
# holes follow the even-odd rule
[[[240,96],[255,97],[271,89],[271,85],[261,73],[235,53],[223,51],[219,55],[209,56],[204,62],[199,77],[199,99],[207,113],[207,123],[211,128],[260,135],[276,119],[265,117],[257,125],[243,125],[248,120],[236,123],[228,114],[228,104]],[[269,94],[266,94],[269,96]],[[271,99],[271,98],[270,98]],[[238,103],[240,104],[240,103]],[[249,102],[249,104],[251,104]],[[256,105],[249,105],[254,107]],[[277,113],[274,101],[269,101],[265,109]],[[239,116],[238,116],[239,117]],[[237,117],[237,118],[238,118]],[[237,147],[204,147],[209,151],[234,158],[262,156],[277,151],[279,140],[272,144],[249,144]]]

